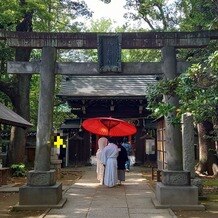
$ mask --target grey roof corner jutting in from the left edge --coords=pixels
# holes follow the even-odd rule
[[[31,127],[32,124],[0,103],[0,123],[12,126]]]

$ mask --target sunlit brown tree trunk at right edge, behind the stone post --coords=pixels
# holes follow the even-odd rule
[[[199,142],[199,162],[196,165],[198,174],[214,175],[215,158],[215,143],[209,138],[210,132],[213,130],[213,125],[210,122],[202,122],[197,125],[198,142]]]

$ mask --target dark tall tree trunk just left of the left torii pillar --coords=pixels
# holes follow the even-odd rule
[[[26,1],[20,0],[20,6],[25,7]],[[17,25],[17,31],[31,32],[32,31],[32,11],[26,11],[23,20]],[[31,48],[17,48],[15,52],[16,61],[29,61]],[[22,72],[21,72],[22,73]],[[17,83],[15,87],[16,95],[10,96],[16,113],[29,121],[30,118],[30,80],[31,75],[17,75]],[[27,130],[20,127],[11,129],[10,147],[9,147],[9,163],[25,162],[25,147],[26,147]]]

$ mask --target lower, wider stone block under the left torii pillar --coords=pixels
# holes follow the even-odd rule
[[[52,186],[22,186],[19,188],[19,204],[14,209],[61,208],[66,199],[62,199],[62,184]]]

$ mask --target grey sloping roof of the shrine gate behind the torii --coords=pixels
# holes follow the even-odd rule
[[[157,82],[156,75],[99,75],[62,78],[58,96],[62,97],[145,97],[149,84]]]

